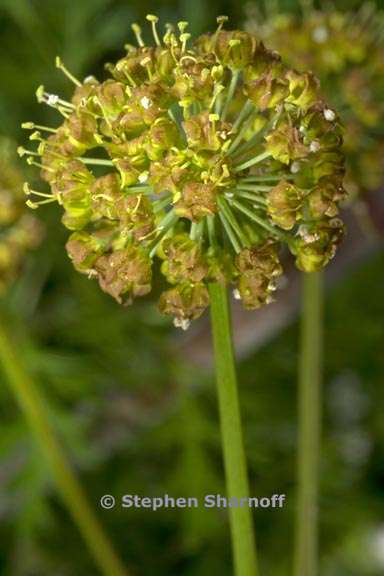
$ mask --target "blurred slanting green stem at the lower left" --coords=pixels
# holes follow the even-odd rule
[[[40,391],[25,372],[15,344],[1,324],[0,362],[11,390],[49,465],[62,500],[87,543],[100,573],[105,576],[127,576],[66,460],[51,427],[48,409]]]

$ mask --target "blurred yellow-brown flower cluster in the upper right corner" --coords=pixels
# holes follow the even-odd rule
[[[247,28],[320,78],[346,127],[346,189],[377,189],[384,178],[384,14],[368,2],[354,13],[325,8],[266,20],[251,13]]]

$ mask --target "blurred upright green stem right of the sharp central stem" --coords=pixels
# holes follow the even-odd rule
[[[318,576],[323,276],[302,275],[295,576]]]

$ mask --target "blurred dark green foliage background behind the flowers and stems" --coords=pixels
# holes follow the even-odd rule
[[[77,76],[104,75],[132,42],[130,25],[156,13],[201,33],[219,14],[243,26],[241,0],[0,0],[0,134],[25,141],[20,124],[50,125],[39,84],[70,95],[60,55]],[[329,3],[324,3],[329,5]],[[261,14],[262,3],[251,3]],[[360,2],[336,2],[357,9]],[[296,12],[294,0],[282,10]],[[379,3],[378,3],[379,6]],[[321,6],[318,5],[320,8]],[[15,158],[15,163],[18,162]],[[25,166],[18,165],[25,178]],[[33,174],[33,175],[32,175]],[[367,195],[375,233],[347,209],[349,234],[327,276],[321,574],[384,573],[384,190]],[[49,400],[73,466],[132,573],[231,574],[227,515],[220,510],[103,511],[103,494],[224,493],[209,324],[185,335],[151,299],[123,308],[76,273],[61,210],[38,211],[45,239],[3,298],[2,322]],[[299,281],[290,270],[278,302],[234,309],[251,493],[287,495],[283,510],[255,513],[263,574],[291,571],[295,508]],[[29,429],[0,375],[0,574],[95,574],[58,499]]]

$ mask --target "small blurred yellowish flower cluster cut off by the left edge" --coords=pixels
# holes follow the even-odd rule
[[[11,143],[0,139],[0,295],[17,277],[26,252],[41,238],[41,226],[26,213],[23,179]],[[14,151],[13,151],[14,153]]]

